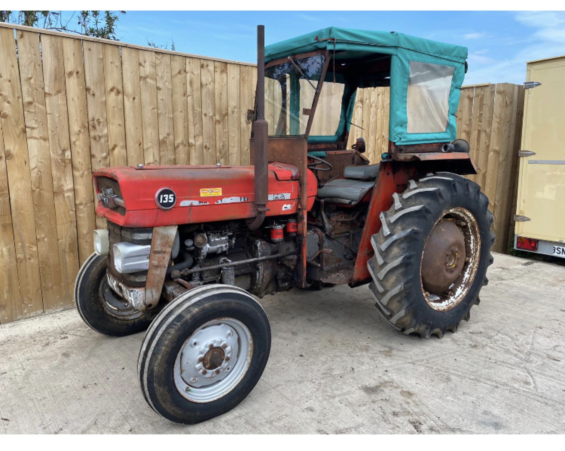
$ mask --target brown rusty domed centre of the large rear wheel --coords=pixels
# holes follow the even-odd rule
[[[422,285],[428,293],[441,294],[457,280],[465,263],[465,239],[453,220],[433,227],[422,257]]]

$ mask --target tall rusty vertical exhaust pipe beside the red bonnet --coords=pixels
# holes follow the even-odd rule
[[[268,123],[265,120],[265,25],[257,25],[257,117],[253,122],[255,162],[255,209],[257,216],[249,224],[250,230],[257,230],[265,219],[269,195],[268,186]]]

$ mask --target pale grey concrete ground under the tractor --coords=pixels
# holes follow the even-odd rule
[[[271,357],[250,396],[196,426],[137,382],[143,334],[109,338],[75,310],[0,326],[0,433],[565,432],[565,267],[496,255],[456,334],[407,337],[367,286],[266,297]]]

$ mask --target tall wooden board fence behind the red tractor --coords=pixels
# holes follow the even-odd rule
[[[0,23],[0,323],[72,306],[92,252],[92,170],[143,164],[249,164],[254,65]],[[462,89],[459,136],[506,248],[523,89]],[[351,140],[378,161],[388,90],[359,90]],[[321,101],[323,104],[323,100]],[[481,149],[479,151],[479,149]]]

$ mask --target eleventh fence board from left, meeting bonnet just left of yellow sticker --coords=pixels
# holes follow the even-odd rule
[[[188,96],[187,112],[189,122],[189,154],[191,165],[204,164],[201,74],[201,61],[197,58],[186,58],[186,95]],[[191,125],[192,128],[190,127]],[[190,131],[192,131],[192,134]]]

